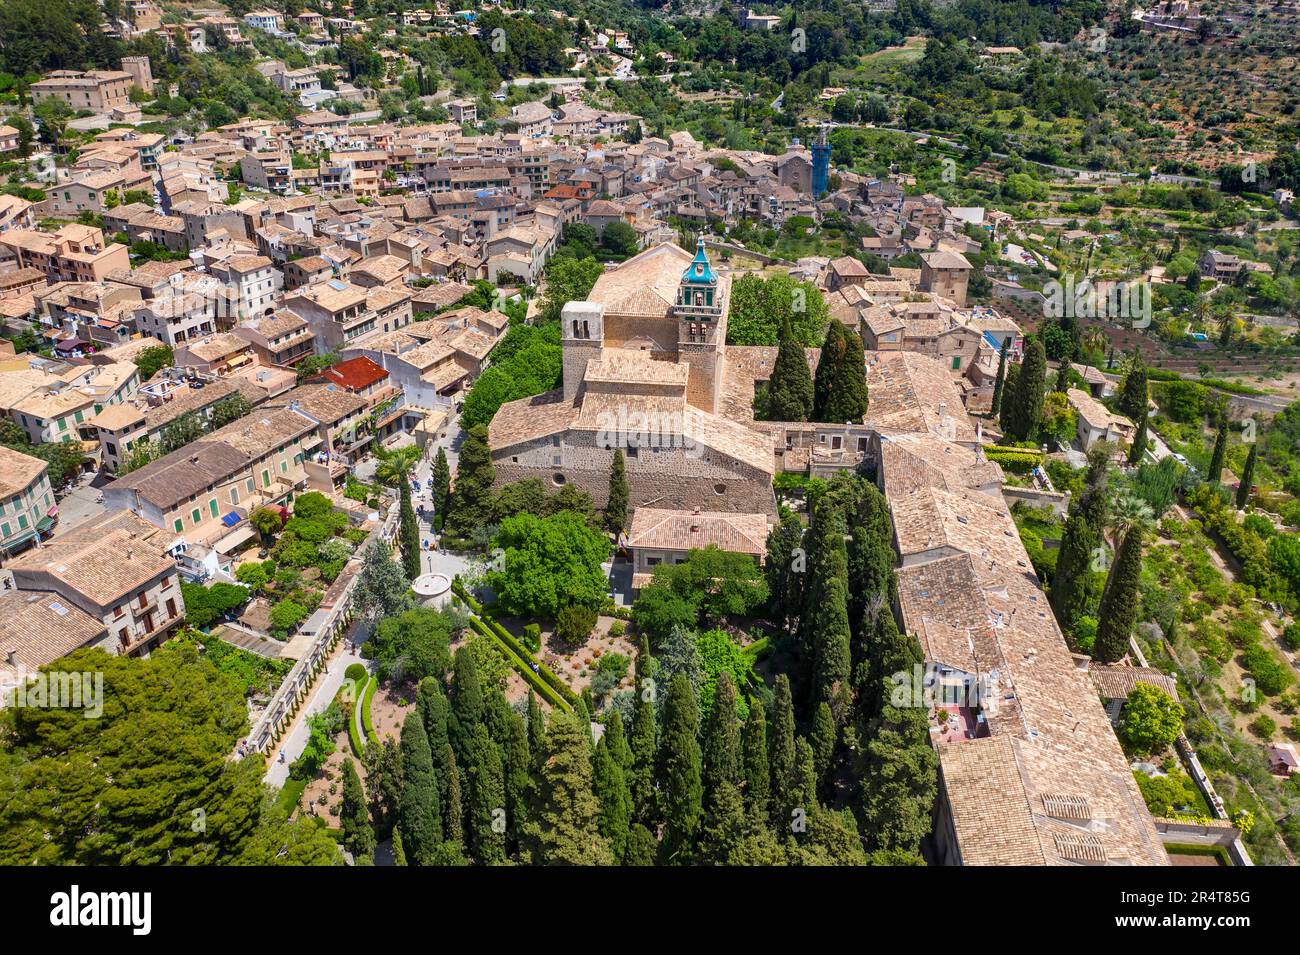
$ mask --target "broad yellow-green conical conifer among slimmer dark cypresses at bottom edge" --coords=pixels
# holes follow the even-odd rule
[[[593,791],[592,748],[572,713],[551,713],[538,764],[536,811],[525,825],[532,861],[611,865],[614,856],[601,835],[601,806]]]

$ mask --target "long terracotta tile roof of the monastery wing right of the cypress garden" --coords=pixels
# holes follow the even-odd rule
[[[1001,495],[948,490],[961,483],[949,469],[911,457],[881,457],[904,625],[928,661],[979,686],[974,706],[988,732],[937,745],[959,860],[1167,864]],[[900,466],[907,477],[890,473]]]

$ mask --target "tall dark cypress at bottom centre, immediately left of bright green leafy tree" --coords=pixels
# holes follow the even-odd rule
[[[688,865],[696,854],[702,815],[699,780],[699,703],[681,673],[668,685],[659,745],[659,785],[663,808],[663,861]]]

